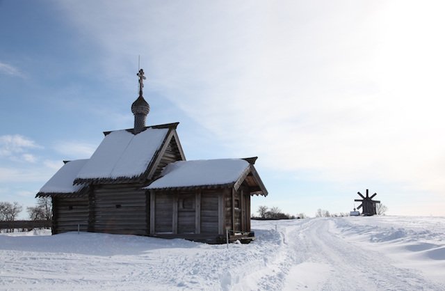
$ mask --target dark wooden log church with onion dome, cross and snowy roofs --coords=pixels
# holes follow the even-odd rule
[[[145,126],[149,104],[131,106],[134,128],[104,132],[90,159],[65,162],[36,197],[51,196],[52,233],[69,231],[180,237],[204,242],[254,239],[250,197],[268,192],[256,157],[186,161],[179,123]]]

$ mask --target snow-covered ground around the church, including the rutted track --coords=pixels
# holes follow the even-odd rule
[[[445,217],[252,221],[250,244],[0,235],[0,290],[445,290]],[[275,230],[276,228],[276,230]]]

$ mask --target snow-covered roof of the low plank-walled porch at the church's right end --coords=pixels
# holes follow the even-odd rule
[[[252,170],[253,166],[245,159],[178,161],[165,166],[162,177],[145,189],[233,186]]]

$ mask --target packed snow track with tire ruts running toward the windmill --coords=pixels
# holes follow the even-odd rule
[[[298,290],[440,290],[419,272],[396,267],[376,251],[363,249],[332,233],[335,219],[309,219],[286,228],[286,254],[293,260],[284,289]],[[315,251],[316,250],[316,251]],[[303,267],[309,266],[310,270]],[[283,265],[287,267],[286,264]],[[304,277],[300,275],[304,275]],[[407,289],[410,286],[410,289]],[[307,290],[307,289],[306,289]]]

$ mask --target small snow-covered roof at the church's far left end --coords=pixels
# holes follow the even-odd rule
[[[67,162],[60,168],[49,181],[43,185],[37,196],[48,196],[51,194],[74,194],[85,187],[84,184],[73,184],[77,173],[85,166],[88,159],[77,159]]]

